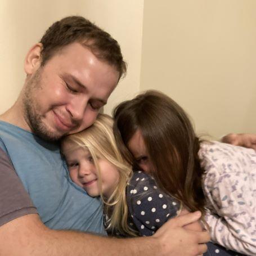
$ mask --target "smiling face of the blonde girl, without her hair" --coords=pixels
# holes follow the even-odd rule
[[[62,143],[62,152],[65,155],[72,181],[83,187],[89,196],[99,196],[101,190],[98,170],[90,152],[70,142]],[[109,198],[119,181],[118,169],[106,159],[98,159],[98,167],[101,171],[102,194]]]

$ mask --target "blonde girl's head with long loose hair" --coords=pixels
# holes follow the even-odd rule
[[[132,176],[132,168],[116,146],[113,119],[99,114],[91,127],[66,136],[61,150],[71,179],[89,195],[101,196],[107,232],[136,235],[128,226],[125,200],[125,187]]]

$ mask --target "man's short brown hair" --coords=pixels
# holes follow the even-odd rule
[[[98,59],[113,65],[119,72],[119,78],[125,75],[126,64],[118,42],[109,33],[81,16],[65,17],[46,30],[40,41],[43,45],[41,65],[43,66],[56,51],[73,42],[87,46]]]

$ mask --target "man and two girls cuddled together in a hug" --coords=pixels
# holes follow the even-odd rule
[[[98,114],[126,72],[110,34],[65,17],[24,70],[0,115],[0,255],[256,254],[255,151],[199,140],[160,92]]]

